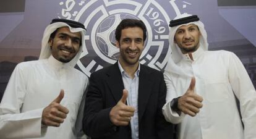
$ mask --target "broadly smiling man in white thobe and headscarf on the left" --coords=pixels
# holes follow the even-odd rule
[[[82,114],[88,78],[75,69],[85,27],[53,19],[38,61],[15,67],[0,104],[0,138],[86,138]],[[81,110],[81,111],[80,111]]]

